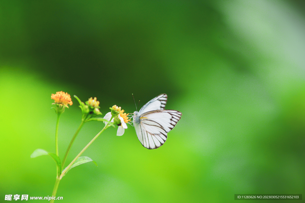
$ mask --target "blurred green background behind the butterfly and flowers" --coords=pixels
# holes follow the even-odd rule
[[[167,93],[182,119],[156,150],[109,128],[59,184],[60,202],[233,202],[305,194],[304,1],[1,1],[0,202],[48,196],[51,94],[134,112]],[[81,122],[59,123],[59,156]],[[67,163],[102,129],[86,123]],[[303,197],[304,198],[304,197]],[[20,200],[19,200],[20,201]],[[30,200],[29,200],[30,201]],[[36,200],[35,202],[39,202]],[[272,202],[272,201],[268,201]],[[286,202],[286,201],[282,201]]]

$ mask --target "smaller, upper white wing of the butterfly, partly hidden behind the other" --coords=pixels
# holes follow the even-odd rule
[[[164,110],[165,105],[167,102],[167,95],[166,94],[160,94],[147,102],[139,111],[139,114],[153,111],[153,110]]]

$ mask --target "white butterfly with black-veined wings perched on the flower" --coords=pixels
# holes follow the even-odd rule
[[[139,112],[135,111],[132,116],[138,139],[147,149],[162,146],[167,139],[167,133],[181,119],[181,112],[164,110],[166,102],[167,95],[160,94],[147,102]]]

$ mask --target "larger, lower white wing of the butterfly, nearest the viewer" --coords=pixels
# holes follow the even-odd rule
[[[140,115],[140,123],[135,130],[141,144],[148,149],[156,149],[164,144],[167,133],[178,123],[182,113],[176,110],[155,110]]]

